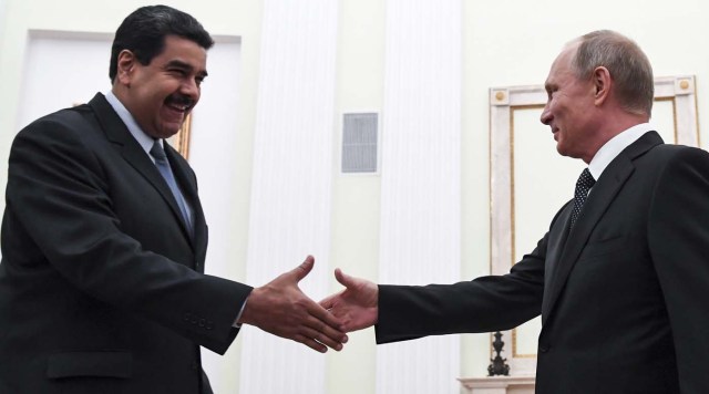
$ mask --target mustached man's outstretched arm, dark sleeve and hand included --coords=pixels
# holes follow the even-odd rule
[[[247,297],[260,291],[254,293],[249,286],[187,267],[194,259],[193,251],[172,217],[131,214],[133,203],[114,199],[115,190],[125,186],[114,182],[107,168],[127,165],[105,158],[115,152],[96,142],[92,127],[97,125],[73,112],[66,116],[73,116],[72,121],[56,116],[33,124],[13,143],[6,221],[18,231],[12,238],[4,237],[4,257],[27,267],[48,265],[52,270],[41,267],[28,274],[51,276],[58,286],[71,286],[224,353],[238,332],[233,323],[239,308]],[[112,170],[115,173],[115,167]],[[145,198],[156,197],[147,193]],[[134,228],[147,227],[143,232],[154,229],[161,235],[154,237],[161,240],[155,245],[168,247],[144,248],[141,237],[133,238],[123,230],[129,220]],[[267,313],[278,305],[284,313],[268,322],[267,331],[304,343],[304,335],[312,335],[311,339],[339,349],[345,335],[336,332],[337,322],[317,303],[306,302],[297,289],[300,276],[286,277],[296,280],[277,279],[270,283],[271,293],[278,296],[267,302],[256,299],[249,313],[245,311],[246,317],[251,311]],[[296,314],[285,317],[289,312]],[[254,323],[265,324],[263,320]],[[314,330],[314,324],[319,330]],[[306,344],[323,351],[320,344]]]

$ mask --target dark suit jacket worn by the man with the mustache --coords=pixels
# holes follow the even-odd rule
[[[0,263],[0,393],[210,393],[251,288],[204,274],[207,226],[189,165],[167,184],[103,95],[42,117],[10,152]]]

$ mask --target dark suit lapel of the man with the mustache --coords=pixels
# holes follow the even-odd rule
[[[167,186],[165,179],[163,179],[163,176],[160,175],[155,164],[150,159],[150,157],[147,157],[145,151],[143,151],[137,141],[135,141],[133,135],[131,135],[131,132],[129,132],[125,124],[123,124],[121,117],[115,113],[115,111],[113,111],[111,104],[109,104],[101,93],[97,93],[89,102],[89,105],[93,108],[99,123],[105,132],[106,138],[117,146],[123,158],[141,175],[143,175],[143,177],[145,177],[145,179],[147,179],[155,189],[157,189],[165,203],[172,209],[175,219],[179,222],[183,234],[192,242],[189,232],[185,227],[186,224],[184,222],[182,212],[179,211],[179,207],[177,206],[177,201],[175,200],[172,190]]]

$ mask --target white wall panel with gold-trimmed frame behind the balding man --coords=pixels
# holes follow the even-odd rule
[[[544,236],[556,210],[573,197],[585,164],[562,157],[540,122],[543,85],[490,90],[491,272],[504,274]],[[667,143],[699,146],[692,75],[657,77],[650,121]],[[503,332],[512,375],[533,375],[541,322]]]

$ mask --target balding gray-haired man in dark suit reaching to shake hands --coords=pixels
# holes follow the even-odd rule
[[[346,289],[321,305],[377,343],[510,330],[542,315],[536,392],[709,393],[709,154],[648,124],[653,70],[613,31],[554,61],[541,121],[588,167],[537,247],[504,276]]]

